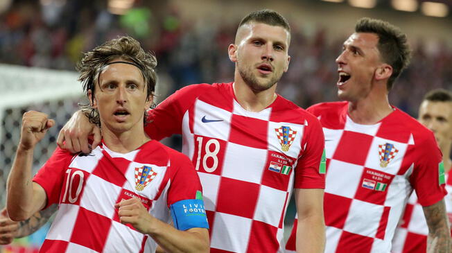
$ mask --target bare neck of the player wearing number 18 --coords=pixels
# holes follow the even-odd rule
[[[269,89],[255,92],[245,82],[234,82],[234,94],[237,102],[249,112],[261,112],[277,98],[276,85]]]

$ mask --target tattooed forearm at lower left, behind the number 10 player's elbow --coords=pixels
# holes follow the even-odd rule
[[[49,221],[53,213],[57,211],[57,205],[52,204],[49,208],[42,211],[38,211],[33,214],[28,220],[21,221],[19,223],[19,229],[17,231],[16,238],[21,238],[24,236],[29,236],[40,229],[44,224]]]

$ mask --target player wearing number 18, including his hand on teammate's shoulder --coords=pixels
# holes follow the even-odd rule
[[[299,252],[324,250],[322,128],[275,94],[288,69],[289,44],[284,17],[251,12],[228,48],[234,82],[189,85],[150,111],[145,131],[151,138],[182,133],[183,152],[204,189],[211,252],[284,251],[283,220],[293,189]],[[72,152],[89,152],[92,128],[78,112],[58,142]]]

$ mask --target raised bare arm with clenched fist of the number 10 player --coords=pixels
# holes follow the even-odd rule
[[[31,165],[36,143],[53,125],[55,121],[42,112],[26,112],[22,117],[21,138],[7,182],[6,208],[11,220],[26,220],[46,204],[44,189],[31,181]]]

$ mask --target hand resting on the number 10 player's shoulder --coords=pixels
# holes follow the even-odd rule
[[[93,142],[88,142],[89,136],[93,136]],[[82,110],[75,112],[58,134],[57,144],[60,148],[75,154],[84,152],[89,154],[92,149],[101,143],[101,130],[90,123]]]

